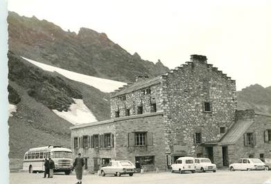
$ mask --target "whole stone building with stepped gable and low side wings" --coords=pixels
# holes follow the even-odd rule
[[[111,94],[111,119],[71,127],[73,153],[97,171],[110,159],[167,169],[180,156],[218,167],[240,157],[271,158],[271,117],[236,110],[236,84],[206,56]],[[236,149],[238,148],[238,151]]]

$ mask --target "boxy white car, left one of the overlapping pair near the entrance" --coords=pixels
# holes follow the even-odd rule
[[[180,157],[173,165],[171,165],[171,172],[180,172],[180,174],[189,171],[195,173],[195,158]]]

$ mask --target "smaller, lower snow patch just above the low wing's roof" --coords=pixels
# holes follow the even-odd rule
[[[75,103],[71,104],[67,112],[60,112],[58,110],[53,110],[53,112],[75,125],[97,122],[96,117],[92,114],[89,108],[87,108],[82,99],[73,99],[73,101]]]

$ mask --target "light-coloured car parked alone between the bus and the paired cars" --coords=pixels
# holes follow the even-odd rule
[[[129,160],[112,160],[105,167],[100,169],[100,174],[114,174],[114,176],[121,176],[122,174],[129,174],[132,176],[135,172],[135,167]]]

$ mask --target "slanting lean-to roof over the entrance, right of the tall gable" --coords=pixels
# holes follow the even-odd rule
[[[253,122],[253,119],[239,119],[229,128],[229,131],[222,137],[218,144],[235,144]]]

